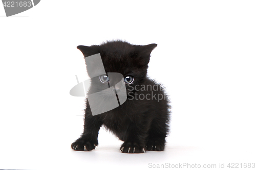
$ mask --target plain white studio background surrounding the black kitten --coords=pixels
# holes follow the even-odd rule
[[[6,17],[0,5],[0,168],[148,169],[152,164],[256,163],[255,1],[41,1]],[[86,78],[77,45],[157,43],[148,76],[172,101],[164,152],[122,154],[104,129],[72,151]],[[152,169],[152,168],[151,168]]]

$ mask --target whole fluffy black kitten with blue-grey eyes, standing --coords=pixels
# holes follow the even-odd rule
[[[132,45],[120,40],[101,45],[77,46],[84,57],[100,53],[106,73],[119,72],[123,75],[127,100],[113,110],[93,116],[86,99],[84,131],[71,144],[73,150],[95,149],[102,125],[124,141],[120,148],[123,153],[164,150],[170,106],[161,85],[146,76],[150,54],[156,46],[157,44]],[[86,64],[87,69],[92,66]],[[110,79],[108,75],[103,75],[97,79],[92,78],[92,81],[108,82],[109,86],[113,86]],[[89,93],[95,91],[95,88],[98,87],[91,86]],[[117,93],[116,90],[113,92]]]

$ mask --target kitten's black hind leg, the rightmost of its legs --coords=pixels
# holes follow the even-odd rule
[[[163,151],[167,135],[166,119],[153,120],[146,142],[147,151]]]

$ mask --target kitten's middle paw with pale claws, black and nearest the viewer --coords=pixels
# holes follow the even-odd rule
[[[120,151],[122,153],[145,153],[145,148],[136,142],[124,142],[121,145]]]

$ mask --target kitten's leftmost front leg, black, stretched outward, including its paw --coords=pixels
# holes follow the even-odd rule
[[[87,104],[87,106],[89,106]],[[98,116],[93,116],[90,107],[86,109],[84,116],[84,130],[80,138],[71,144],[71,148],[75,151],[91,151],[98,145],[98,133],[102,126],[102,122],[98,120]]]

